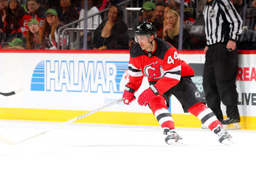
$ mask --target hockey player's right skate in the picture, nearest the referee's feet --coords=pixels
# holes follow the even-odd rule
[[[224,145],[234,144],[234,142],[230,140],[232,138],[231,135],[226,131],[226,129],[221,128],[221,126],[215,128],[213,132],[218,135],[220,143]]]

